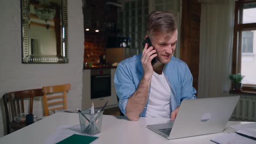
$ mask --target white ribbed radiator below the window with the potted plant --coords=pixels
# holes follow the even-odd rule
[[[240,95],[230,121],[256,121],[256,95]]]

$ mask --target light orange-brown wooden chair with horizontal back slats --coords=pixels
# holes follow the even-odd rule
[[[49,111],[55,111],[57,109],[67,109],[67,91],[70,90],[70,84],[65,85],[54,85],[54,86],[43,86],[43,104],[44,104],[44,112],[45,116],[49,115]],[[62,95],[54,95],[55,93],[62,93]],[[60,101],[53,101],[53,100]],[[60,107],[50,108],[52,106],[62,105]]]

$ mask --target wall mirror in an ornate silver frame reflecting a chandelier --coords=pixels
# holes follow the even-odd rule
[[[68,63],[67,0],[21,0],[22,63]]]

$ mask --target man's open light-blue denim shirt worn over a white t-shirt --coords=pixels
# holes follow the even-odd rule
[[[172,56],[171,61],[164,65],[164,75],[169,82],[171,92],[171,107],[170,111],[174,111],[183,99],[197,98],[196,90],[193,88],[193,77],[185,62]],[[132,56],[121,61],[116,69],[114,83],[116,94],[118,95],[118,105],[121,111],[126,116],[126,105],[128,98],[137,90],[138,85],[143,76],[143,68],[141,64],[141,54]],[[148,92],[149,97],[150,90]],[[148,106],[141,112],[140,117],[145,117]]]

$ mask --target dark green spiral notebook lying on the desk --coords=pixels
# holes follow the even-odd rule
[[[73,134],[72,136],[67,137],[62,141],[59,141],[56,144],[92,144],[92,142],[96,140],[98,140],[98,137],[82,134]]]

